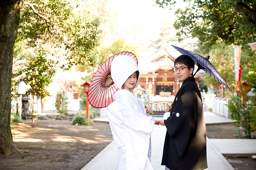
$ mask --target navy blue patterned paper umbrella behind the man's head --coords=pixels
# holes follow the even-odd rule
[[[198,69],[195,72],[195,74],[200,69],[202,69],[203,71],[207,72],[211,77],[213,77],[215,80],[217,80],[218,82],[222,83],[224,86],[226,86],[226,87],[228,87],[230,89],[230,87],[228,86],[226,81],[223,79],[221,74],[219,74],[219,72],[216,70],[216,68],[209,61],[209,58],[210,58],[209,55],[207,55],[206,57],[203,57],[201,55],[198,55],[198,54],[196,54],[194,52],[185,50],[185,49],[180,48],[180,47],[176,47],[176,46],[173,46],[173,45],[172,45],[172,47],[174,47],[180,53],[182,53],[184,55],[188,55],[188,56],[190,56],[193,59],[193,61],[195,62],[195,65],[197,65],[197,67],[198,67]]]

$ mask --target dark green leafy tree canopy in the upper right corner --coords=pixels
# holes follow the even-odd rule
[[[184,10],[178,9],[175,29],[180,38],[192,35],[209,50],[217,40],[227,45],[242,45],[256,39],[256,1],[251,0],[184,0],[190,3]],[[156,0],[161,7],[172,7],[175,0]]]

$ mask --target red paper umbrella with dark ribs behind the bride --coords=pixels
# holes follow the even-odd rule
[[[118,55],[130,56],[138,65],[136,56],[131,52],[120,52],[106,60],[94,74],[89,86],[88,101],[93,107],[103,108],[110,105],[114,101],[112,96],[119,89],[112,80],[110,66],[113,59]]]

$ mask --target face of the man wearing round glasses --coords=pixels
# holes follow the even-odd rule
[[[186,67],[186,68],[183,68],[183,70],[180,71],[179,68],[181,67]],[[189,76],[192,75],[193,68],[188,69],[185,64],[176,63],[174,68],[177,68],[177,71],[174,71],[174,75],[179,80],[179,82],[183,83]]]

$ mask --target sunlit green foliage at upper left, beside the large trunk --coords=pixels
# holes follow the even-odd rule
[[[99,18],[90,7],[63,0],[25,2],[20,12],[17,41],[27,39],[30,48],[45,46],[61,52],[61,68],[72,65],[95,65],[95,47],[99,45]],[[50,53],[50,52],[48,52]],[[63,60],[64,59],[64,60]]]

